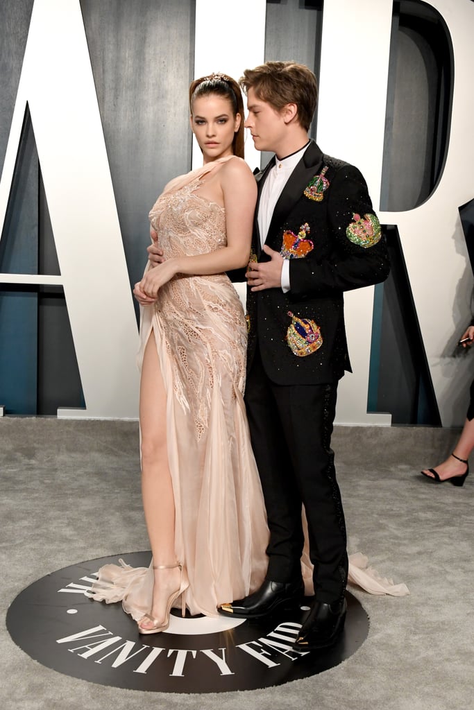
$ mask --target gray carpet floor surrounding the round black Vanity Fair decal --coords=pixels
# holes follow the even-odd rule
[[[369,555],[411,595],[352,588],[369,636],[338,667],[252,692],[127,691],[65,676],[0,631],[0,707],[7,710],[458,710],[472,707],[473,490],[419,476],[458,430],[336,427],[333,448],[349,551]],[[148,549],[136,422],[0,418],[1,616],[36,579],[95,557]]]

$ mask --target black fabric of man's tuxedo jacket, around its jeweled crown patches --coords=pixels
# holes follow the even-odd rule
[[[275,159],[259,173],[257,208],[254,218],[252,251],[258,261],[268,261],[261,248],[257,214],[262,185]],[[304,192],[312,178],[323,168],[327,189],[320,202]],[[367,185],[357,168],[342,160],[323,155],[310,142],[291,174],[271,219],[265,244],[280,251],[284,232],[293,235],[309,227],[306,235],[313,249],[289,263],[291,290],[281,288],[254,292],[247,290],[249,345],[247,366],[252,366],[257,339],[266,375],[279,385],[323,384],[338,381],[350,371],[345,336],[343,292],[382,282],[389,273],[389,258],[384,236],[373,246],[351,241],[346,229],[354,224],[354,215],[364,218],[374,214]],[[311,354],[293,354],[286,334],[291,312],[301,319],[316,322],[321,329],[322,345]]]

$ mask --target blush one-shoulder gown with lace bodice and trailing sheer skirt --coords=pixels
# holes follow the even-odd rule
[[[167,258],[225,246],[225,210],[201,197],[199,188],[204,176],[228,159],[172,180],[158,197],[149,216]],[[172,278],[154,305],[141,308],[139,366],[150,337],[166,388],[176,559],[190,581],[185,602],[191,614],[217,616],[220,603],[242,599],[262,584],[269,539],[243,400],[247,327],[227,275]],[[311,594],[307,548],[303,560]],[[354,567],[350,558],[356,584],[372,594],[400,593],[401,585],[364,572],[364,559],[357,563]],[[97,574],[94,599],[122,601],[136,621],[149,613],[151,566],[134,568],[121,560]]]

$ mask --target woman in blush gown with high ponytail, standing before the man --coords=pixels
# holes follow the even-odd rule
[[[217,616],[264,577],[268,531],[242,392],[247,328],[225,271],[249,261],[257,187],[244,163],[237,83],[190,85],[203,168],[165,187],[150,212],[164,261],[135,285],[142,493],[150,569],[107,565],[95,599],[118,601],[139,632],[158,633],[172,606]],[[112,582],[112,586],[110,583]]]

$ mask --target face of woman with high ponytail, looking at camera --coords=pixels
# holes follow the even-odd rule
[[[240,114],[234,116],[229,99],[210,94],[193,101],[191,129],[203,151],[204,162],[232,155],[232,141],[239,130]]]

